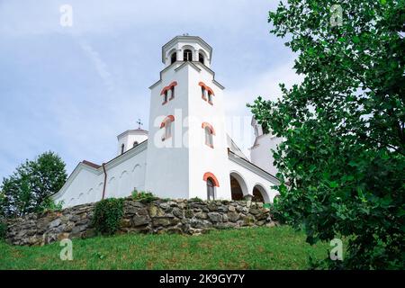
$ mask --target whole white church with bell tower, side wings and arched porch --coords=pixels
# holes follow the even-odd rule
[[[270,148],[280,140],[252,119],[256,140],[249,160],[230,139],[224,87],[210,68],[211,54],[200,37],[168,41],[165,67],[149,87],[149,130],[118,135],[118,155],[106,163],[80,162],[53,199],[70,207],[136,190],[172,199],[273,202],[279,181]]]

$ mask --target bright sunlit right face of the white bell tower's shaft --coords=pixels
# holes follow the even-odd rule
[[[230,199],[228,167],[228,141],[225,132],[224,94],[222,87],[213,81],[211,72],[198,64],[198,71],[189,68],[189,139],[190,139],[190,198],[207,199],[207,184],[202,177],[206,172],[216,176],[220,184],[215,187],[216,199]],[[211,87],[214,92],[212,105],[202,99],[199,82]],[[202,122],[208,122],[215,130],[212,136],[213,148],[205,145],[205,131]]]

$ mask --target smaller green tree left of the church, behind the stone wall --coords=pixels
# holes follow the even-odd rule
[[[50,196],[66,182],[65,166],[53,152],[18,166],[13,175],[3,179],[0,215],[16,217],[54,206]]]

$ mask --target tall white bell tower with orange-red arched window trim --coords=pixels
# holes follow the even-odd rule
[[[162,48],[151,90],[146,190],[159,197],[230,199],[223,89],[211,70],[212,48],[176,36]]]

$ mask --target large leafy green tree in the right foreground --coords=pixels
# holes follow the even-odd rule
[[[333,4],[342,8],[338,20]],[[329,268],[403,268],[403,0],[289,0],[269,13],[302,83],[248,105],[285,141],[275,152],[277,211],[307,241],[348,239]]]

